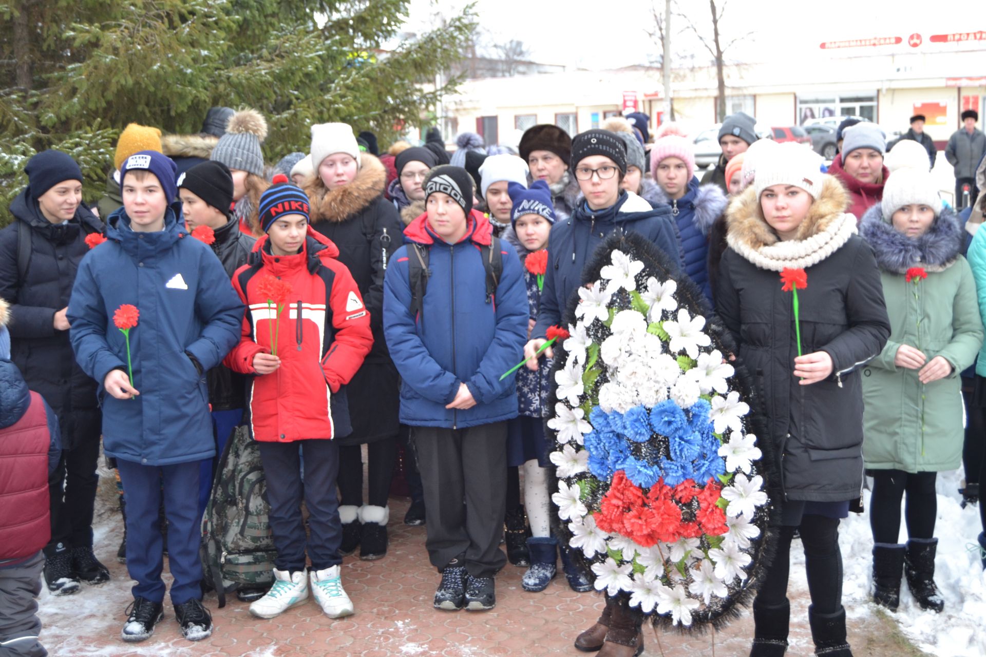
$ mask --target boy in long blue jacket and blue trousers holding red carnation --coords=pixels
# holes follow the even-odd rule
[[[100,382],[104,449],[126,491],[126,563],[137,584],[124,641],[148,638],[164,618],[162,498],[176,620],[190,640],[212,633],[199,587],[195,494],[199,461],[215,454],[204,372],[240,341],[244,306],[212,250],[183,228],[172,206],[175,171],[155,151],[121,166],[123,207],[106,220],[107,241],[79,265],[68,305],[72,348]],[[129,351],[113,323],[123,304],[139,311]]]

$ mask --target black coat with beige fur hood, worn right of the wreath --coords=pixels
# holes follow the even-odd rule
[[[779,242],[752,188],[729,209],[729,248],[719,267],[716,309],[764,402],[788,499],[845,501],[863,486],[860,367],[890,335],[873,250],[844,214],[848,195],[825,176],[796,239]],[[798,356],[793,298],[784,268],[805,269],[800,300],[803,353],[826,352],[832,375],[811,385],[794,376]]]

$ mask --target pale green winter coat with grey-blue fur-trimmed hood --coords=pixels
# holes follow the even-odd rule
[[[870,470],[954,470],[963,440],[959,373],[983,342],[975,280],[959,254],[964,233],[948,209],[917,239],[884,223],[880,213],[880,204],[871,208],[860,232],[880,264],[891,332],[863,370],[863,460]],[[924,268],[928,278],[908,283],[910,267]],[[943,357],[951,374],[923,385],[919,370],[894,364],[901,345],[921,350],[928,361]]]

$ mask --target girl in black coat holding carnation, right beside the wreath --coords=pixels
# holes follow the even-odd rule
[[[757,164],[753,184],[730,205],[719,267],[717,309],[763,396],[762,438],[773,443],[784,493],[777,556],[753,603],[751,657],[787,649],[789,560],[799,528],[815,654],[852,655],[838,526],[863,488],[859,370],[880,355],[890,325],[873,251],[845,212],[849,197],[818,166],[797,144]]]

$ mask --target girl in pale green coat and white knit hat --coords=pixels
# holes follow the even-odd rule
[[[958,372],[982,347],[976,283],[961,255],[963,231],[943,208],[928,170],[900,169],[861,234],[880,265],[890,339],[864,370],[874,601],[895,611],[901,570],[922,609],[945,606],[935,586],[937,474],[962,457]],[[907,545],[899,545],[906,493]]]

